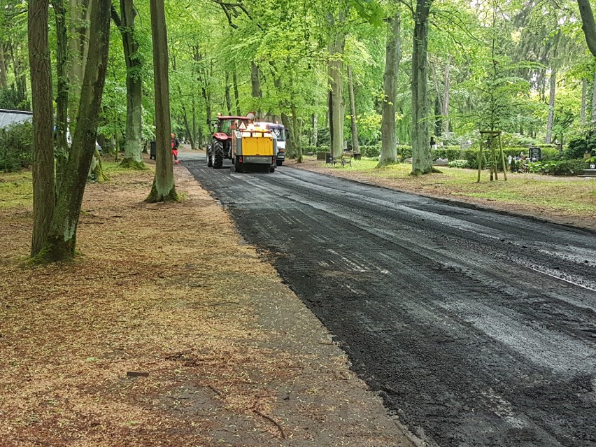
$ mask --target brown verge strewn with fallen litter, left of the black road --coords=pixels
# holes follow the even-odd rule
[[[87,187],[70,264],[0,211],[0,446],[412,446],[186,169],[151,180]]]

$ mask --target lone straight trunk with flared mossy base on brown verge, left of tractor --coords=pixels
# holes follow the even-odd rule
[[[150,1],[155,78],[155,179],[146,201],[178,201],[173,181],[171,154],[170,92],[168,77],[168,36],[164,0]]]

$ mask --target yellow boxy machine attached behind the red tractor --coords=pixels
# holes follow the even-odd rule
[[[247,169],[275,171],[277,139],[265,127],[249,124],[234,129],[232,152],[236,172]]]

